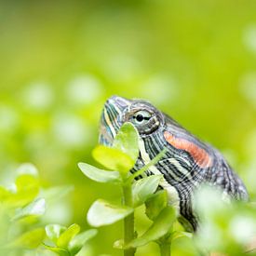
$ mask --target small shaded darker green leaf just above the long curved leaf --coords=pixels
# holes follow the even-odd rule
[[[168,204],[168,195],[166,190],[160,190],[150,197],[146,202],[146,215],[154,221],[158,214],[165,209]]]

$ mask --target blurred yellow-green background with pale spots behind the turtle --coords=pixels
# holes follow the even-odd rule
[[[34,163],[46,187],[74,184],[48,222],[88,228],[91,203],[120,191],[77,162],[95,164],[102,104],[116,94],[152,101],[221,149],[255,198],[255,13],[253,0],[1,1],[1,183]],[[91,253],[120,255],[121,232],[101,228]]]

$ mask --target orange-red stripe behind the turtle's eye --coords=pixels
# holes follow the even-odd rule
[[[212,165],[212,159],[208,152],[203,148],[197,146],[192,141],[187,141],[182,138],[174,137],[168,131],[164,132],[166,141],[173,147],[181,149],[189,153],[200,168],[209,168]]]

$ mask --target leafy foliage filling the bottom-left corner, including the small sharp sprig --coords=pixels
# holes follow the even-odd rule
[[[44,240],[58,238],[57,249],[46,246],[60,255],[75,255],[96,235],[96,230],[82,232],[77,224],[69,228],[58,224],[45,228],[42,217],[47,207],[72,190],[71,186],[56,186],[44,189],[37,169],[32,164],[23,164],[17,169],[15,181],[0,186],[0,254],[23,255],[27,251],[43,253]],[[59,234],[60,237],[57,235]],[[58,250],[59,249],[59,250]],[[46,249],[44,249],[46,250]]]

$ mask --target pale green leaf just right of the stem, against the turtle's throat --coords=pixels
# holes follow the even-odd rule
[[[155,193],[162,175],[152,175],[132,184],[133,206],[138,207]]]

